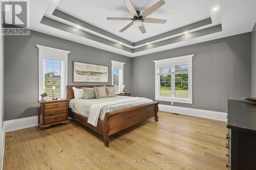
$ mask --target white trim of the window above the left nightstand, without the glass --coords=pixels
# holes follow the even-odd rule
[[[60,50],[57,48],[52,48],[48,46],[42,46],[42,45],[35,45],[39,49],[38,57],[39,57],[39,80],[38,80],[38,100],[40,100],[40,94],[44,93],[43,88],[43,59],[58,59],[64,61],[64,70],[65,70],[65,76],[64,76],[64,90],[61,92],[61,98],[67,97],[67,85],[68,85],[68,54],[69,51]]]

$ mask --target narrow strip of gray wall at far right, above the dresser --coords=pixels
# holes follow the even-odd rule
[[[251,32],[251,96],[256,97],[256,23]]]

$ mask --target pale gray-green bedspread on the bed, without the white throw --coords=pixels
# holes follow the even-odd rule
[[[120,96],[117,95],[114,98],[101,98],[101,99],[72,99],[69,102],[69,107],[72,109],[72,111],[81,114],[83,116],[88,117],[90,113],[90,107],[94,104],[98,103],[107,103],[107,102],[113,102],[121,99],[127,99],[127,98],[133,98],[129,96]],[[115,105],[108,105],[104,106],[100,110],[99,119],[103,120],[106,113],[121,109],[126,109],[134,106],[144,105],[147,103],[151,103],[153,100],[141,98],[141,100],[137,101],[130,101]]]

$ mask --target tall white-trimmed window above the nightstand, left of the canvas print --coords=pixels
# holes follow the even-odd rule
[[[39,94],[49,98],[66,98],[68,54],[70,52],[36,45],[39,48]]]

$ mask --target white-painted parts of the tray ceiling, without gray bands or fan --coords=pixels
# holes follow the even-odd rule
[[[169,50],[169,49],[180,47],[180,46],[186,46],[186,45],[195,44],[199,42],[204,42],[204,41],[209,41],[213,39],[250,32],[256,21],[256,10],[255,10],[256,1],[255,0],[244,0],[244,1],[242,0],[180,0],[180,1],[165,0],[166,5],[164,5],[162,8],[160,8],[158,11],[156,11],[154,14],[150,15],[149,17],[167,19],[168,22],[166,24],[168,25],[170,24],[170,26],[165,28],[163,27],[163,25],[156,26],[156,25],[148,24],[147,26],[145,26],[148,32],[145,35],[142,35],[138,30],[136,30],[133,27],[127,30],[127,32],[125,32],[123,35],[122,34],[119,35],[118,31],[125,26],[125,22],[121,24],[122,21],[107,21],[105,20],[105,17],[130,16],[129,11],[126,10],[126,7],[122,0],[108,0],[108,1],[106,0],[105,1],[104,0],[97,0],[97,1],[96,0],[87,0],[87,1],[30,0],[29,2],[30,2],[30,29],[39,31],[42,33],[50,34],[53,36],[57,36],[60,38],[68,39],[71,41],[75,41],[78,43],[97,47],[102,50],[110,51],[113,53],[129,56],[129,57],[136,57],[136,56],[141,56],[145,54],[156,53],[156,52]],[[139,9],[143,11],[147,7],[150,7],[155,2],[157,2],[157,0],[140,0],[140,1],[132,0],[132,2],[135,7],[139,7]],[[136,4],[138,2],[139,4]],[[193,3],[190,4],[190,2],[194,2],[194,4]],[[69,4],[69,5],[64,10],[65,4]],[[173,4],[173,5],[169,5],[169,4]],[[205,5],[207,5],[207,7]],[[174,44],[168,44],[168,45],[152,48],[152,49],[137,52],[137,53],[130,53],[107,44],[93,41],[91,39],[87,39],[69,32],[65,32],[65,31],[41,24],[40,21],[44,15],[51,17],[53,19],[65,22],[51,15],[57,6],[59,6],[60,9],[63,8],[61,10],[66,12],[68,12],[69,10],[71,12],[71,10],[73,9],[74,13],[69,13],[69,12],[68,13],[80,19],[83,19],[84,17],[83,19],[84,21],[87,21],[95,26],[98,26],[101,29],[110,31],[113,34],[124,37],[125,39],[129,39],[133,41],[136,41],[135,38],[144,39],[144,38],[147,38],[147,36],[151,37],[153,35],[160,34],[160,33],[172,30],[174,28],[187,25],[188,23],[192,23],[197,20],[206,18],[209,15],[213,21],[212,25],[222,23],[223,31],[202,36],[202,37],[189,39],[189,40],[183,40]],[[96,10],[95,13],[89,14],[88,15],[89,18],[88,20],[86,20],[87,15],[84,15],[84,14],[86,14],[87,12],[85,9],[94,10],[93,7],[98,7],[98,9],[101,9],[101,10]],[[177,7],[177,8],[174,8],[174,7]],[[218,8],[218,9],[214,11],[215,8]],[[172,9],[172,10],[169,10],[169,9]],[[180,13],[179,11],[181,9],[183,12]],[[97,18],[97,23],[94,23],[95,22],[94,17]],[[102,21],[100,21],[100,18],[103,18]],[[180,19],[177,19],[177,18],[180,18]],[[69,22],[65,22],[65,23],[72,26],[72,23],[69,23]],[[116,27],[113,27],[112,23],[114,23]],[[83,29],[85,31],[98,35],[93,31],[90,31],[84,28],[80,28],[80,29]],[[128,34],[128,32],[130,33]],[[136,36],[134,37],[133,35],[136,35]],[[98,35],[98,36],[104,37],[102,35]],[[127,36],[127,38],[125,36]],[[63,50],[69,51],[69,49],[63,49]]]

